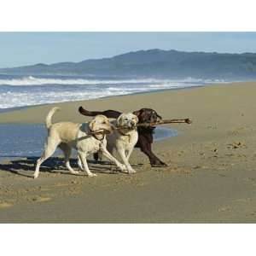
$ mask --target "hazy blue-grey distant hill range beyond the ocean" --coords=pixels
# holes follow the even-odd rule
[[[256,54],[219,54],[148,49],[81,62],[2,68],[0,73],[158,78],[255,79]]]

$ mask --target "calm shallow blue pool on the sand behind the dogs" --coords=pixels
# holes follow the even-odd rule
[[[0,125],[0,161],[20,157],[38,157],[43,153],[47,131],[44,125]],[[177,131],[157,127],[154,140],[177,136]],[[55,155],[61,154],[56,150]]]

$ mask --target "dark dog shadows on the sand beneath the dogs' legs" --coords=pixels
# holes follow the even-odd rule
[[[7,158],[12,158],[12,156],[8,156]],[[14,160],[3,160],[0,162],[0,172],[10,172],[23,177],[33,177],[37,160],[38,156],[22,157],[19,159],[15,158]],[[109,161],[87,160],[87,162],[89,164],[90,171],[92,172],[118,174],[118,169],[116,166],[111,164]],[[70,159],[70,165],[73,166],[74,170],[79,170],[77,159]],[[40,166],[40,172],[74,175],[67,170],[64,159],[59,157],[51,157],[48,160],[45,160]],[[80,174],[76,176],[84,175],[86,175],[85,172],[81,171]]]

